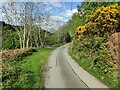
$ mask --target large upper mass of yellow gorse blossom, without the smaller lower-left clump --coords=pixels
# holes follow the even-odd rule
[[[99,32],[103,35],[104,33],[114,33],[118,31],[118,23],[120,20],[120,6],[118,4],[111,5],[108,7],[101,7],[96,10],[92,15],[89,15],[87,22],[94,22],[99,28]]]

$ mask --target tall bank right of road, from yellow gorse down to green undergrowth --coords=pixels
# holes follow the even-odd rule
[[[76,29],[69,47],[70,54],[84,69],[110,87],[118,87],[118,75],[107,42],[108,36],[120,32],[119,20],[118,4],[97,9]]]

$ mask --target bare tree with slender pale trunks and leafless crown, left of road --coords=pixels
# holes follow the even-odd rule
[[[37,21],[40,23],[40,10],[38,8],[40,3],[6,2],[4,4],[2,11],[5,14],[7,22],[14,25],[13,28],[17,31],[20,48],[28,48],[30,45],[31,31],[36,30]],[[40,30],[40,27],[38,30]]]

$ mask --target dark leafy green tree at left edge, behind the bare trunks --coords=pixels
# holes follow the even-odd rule
[[[3,49],[16,49],[19,48],[19,37],[16,31],[10,25],[2,27],[2,48]]]

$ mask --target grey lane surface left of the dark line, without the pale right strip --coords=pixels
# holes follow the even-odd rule
[[[65,55],[67,46],[56,49],[50,56],[45,76],[45,88],[88,88],[67,62]]]

